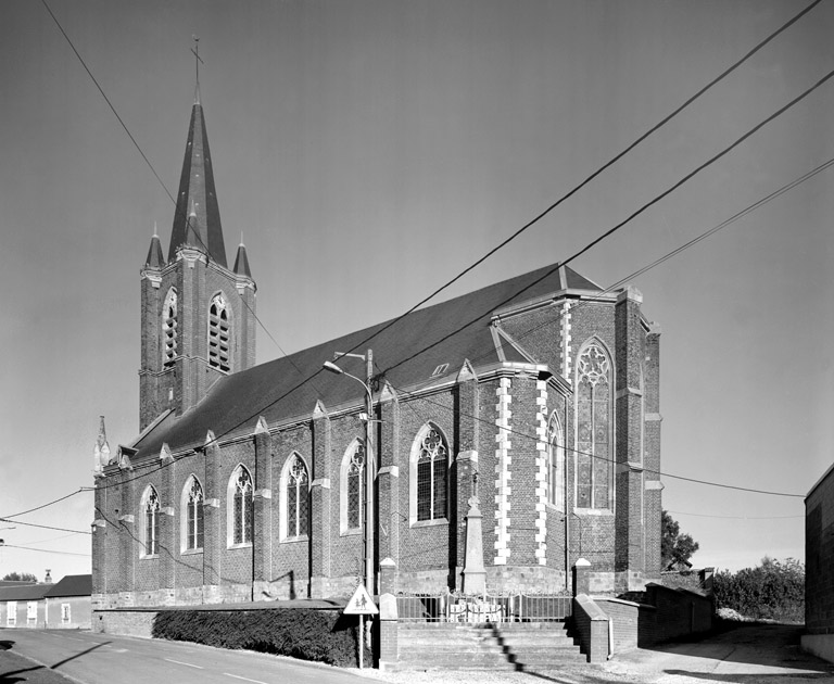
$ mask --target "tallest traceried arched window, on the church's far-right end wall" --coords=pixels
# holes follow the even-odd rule
[[[611,507],[611,363],[596,342],[577,364],[577,506]]]

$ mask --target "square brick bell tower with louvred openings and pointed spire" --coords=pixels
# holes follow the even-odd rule
[[[140,271],[140,430],[255,364],[256,286],[242,242],[227,266],[199,81],[176,200],[167,261],[154,231]]]

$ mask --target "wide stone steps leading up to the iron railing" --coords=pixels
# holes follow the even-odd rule
[[[401,622],[396,670],[523,671],[586,662],[564,622]]]

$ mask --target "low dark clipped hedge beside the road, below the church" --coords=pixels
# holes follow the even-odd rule
[[[340,667],[358,664],[355,616],[311,608],[162,610],[155,638],[291,656]],[[370,651],[366,648],[365,661]]]

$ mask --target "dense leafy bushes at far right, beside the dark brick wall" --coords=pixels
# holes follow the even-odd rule
[[[755,620],[803,622],[805,619],[805,566],[767,556],[756,568],[715,577],[716,607],[732,608]]]

